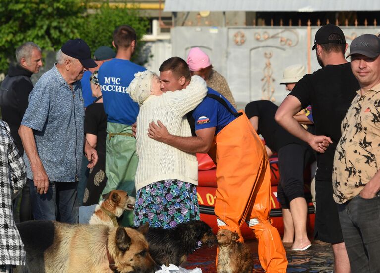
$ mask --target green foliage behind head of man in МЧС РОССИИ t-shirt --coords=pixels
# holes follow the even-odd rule
[[[109,3],[103,3],[101,7],[93,14],[87,14],[85,23],[80,29],[80,37],[85,40],[91,52],[94,52],[99,46],[112,46],[112,34],[116,27],[120,25],[129,25],[135,29],[137,35],[136,52],[140,51],[143,43],[139,42],[146,33],[149,22],[146,18],[139,16],[139,10],[135,8],[126,8],[127,1],[119,6],[109,6]],[[137,55],[132,57],[136,61]]]

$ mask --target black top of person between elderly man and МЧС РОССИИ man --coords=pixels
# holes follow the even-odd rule
[[[84,133],[96,135],[97,152],[106,153],[107,115],[103,103],[93,103],[86,108]]]

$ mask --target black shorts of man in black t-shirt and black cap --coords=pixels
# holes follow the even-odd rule
[[[344,242],[337,205],[332,197],[331,181],[316,180],[316,215],[314,238],[337,244]]]

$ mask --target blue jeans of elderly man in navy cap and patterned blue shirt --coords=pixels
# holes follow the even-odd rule
[[[78,223],[78,182],[50,182],[48,192],[39,194],[33,180],[28,179],[30,201],[35,220]]]

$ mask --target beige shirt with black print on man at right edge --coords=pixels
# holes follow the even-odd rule
[[[334,156],[334,200],[340,204],[357,196],[379,169],[380,84],[357,93],[342,121]]]

